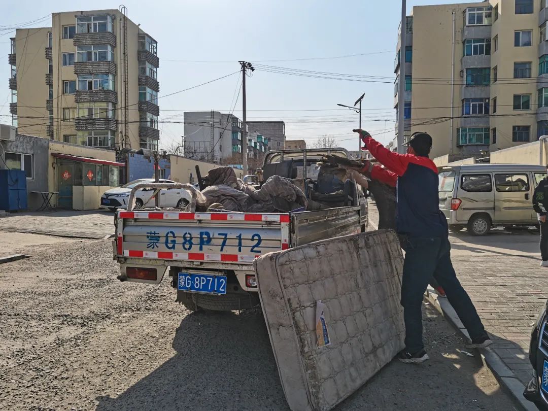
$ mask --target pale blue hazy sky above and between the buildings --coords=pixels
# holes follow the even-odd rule
[[[414,5],[449,3],[454,1],[410,0],[407,14]],[[239,60],[256,68],[246,81],[248,121],[283,120],[288,139],[304,139],[312,145],[318,136],[331,135],[339,146],[357,150],[352,129],[358,127],[358,114],[337,104],[352,106],[365,93],[362,128],[384,144],[394,137],[393,69],[399,0],[125,0],[124,4],[128,18],[158,41],[161,147],[181,142],[184,111],[233,111],[242,118]],[[9,37],[15,34],[2,28],[50,13],[91,7],[113,9],[118,3],[20,0],[3,8],[0,79],[4,80],[0,84],[5,88],[0,92],[0,122],[11,121],[7,55]],[[50,22],[44,20],[36,27]],[[362,77],[343,81],[311,77],[311,73],[288,75],[302,74],[288,68]],[[167,96],[172,93],[176,94]]]

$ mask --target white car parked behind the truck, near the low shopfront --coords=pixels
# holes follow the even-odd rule
[[[127,208],[129,193],[132,191],[135,185],[141,182],[154,182],[154,179],[139,179],[128,182],[128,184],[116,189],[110,189],[104,192],[101,196],[101,207],[108,208],[112,211],[117,208]],[[160,179],[158,182],[168,183],[175,181]],[[154,189],[139,190],[135,193],[135,207],[139,209],[143,207],[154,207],[155,201],[152,198]],[[163,189],[159,192],[160,207],[186,207],[190,203],[192,196],[190,193],[183,189]]]

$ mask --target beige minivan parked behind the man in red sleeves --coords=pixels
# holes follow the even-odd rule
[[[544,165],[465,164],[438,167],[439,209],[449,230],[482,236],[496,226],[538,224],[533,191],[546,176]]]

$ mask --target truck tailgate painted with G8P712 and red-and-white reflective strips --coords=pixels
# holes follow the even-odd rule
[[[118,257],[251,263],[289,248],[289,214],[118,212]]]

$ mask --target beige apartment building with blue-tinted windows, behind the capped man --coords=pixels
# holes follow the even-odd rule
[[[490,0],[413,7],[406,48],[398,34],[395,60],[396,73],[406,65],[404,137],[430,133],[431,157],[438,157],[486,155],[548,134],[546,6]]]

